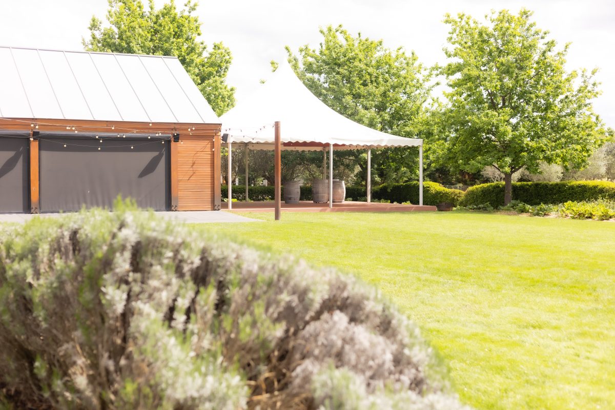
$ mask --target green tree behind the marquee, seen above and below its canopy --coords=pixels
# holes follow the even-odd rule
[[[298,55],[287,47],[288,61],[301,81],[323,103],[360,124],[416,138],[426,115],[432,85],[414,52],[387,49],[383,41],[352,36],[343,26],[321,28],[319,49],[309,45]],[[382,182],[416,176],[416,152],[408,149],[372,151],[375,176]],[[335,152],[341,161],[359,165],[365,179],[365,152]]]

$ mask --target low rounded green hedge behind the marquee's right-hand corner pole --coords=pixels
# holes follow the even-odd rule
[[[464,196],[459,189],[448,189],[442,185],[426,181],[423,183],[423,205],[437,205],[449,202],[456,207]],[[419,183],[412,181],[405,184],[381,185],[371,192],[373,199],[386,199],[391,202],[419,203]]]

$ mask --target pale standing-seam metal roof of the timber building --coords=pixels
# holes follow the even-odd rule
[[[177,57],[0,47],[0,117],[220,124]]]

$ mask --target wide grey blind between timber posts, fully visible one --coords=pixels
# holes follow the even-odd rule
[[[117,195],[169,208],[169,143],[54,138],[40,141],[39,160],[41,211],[110,208]]]

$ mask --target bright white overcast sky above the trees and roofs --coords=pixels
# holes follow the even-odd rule
[[[549,30],[558,44],[573,43],[568,69],[600,68],[603,95],[595,100],[595,110],[615,127],[613,0],[218,0],[201,1],[197,14],[203,39],[230,47],[234,60],[228,82],[240,100],[268,76],[270,60],[284,58],[285,45],[317,47],[319,26],[343,24],[351,33],[384,39],[387,47],[415,50],[432,65],[445,62],[446,12],[482,19],[491,9],[516,13],[521,7],[534,10],[539,28]],[[0,0],[0,45],[81,50],[90,17],[104,20],[106,8],[106,0]]]

